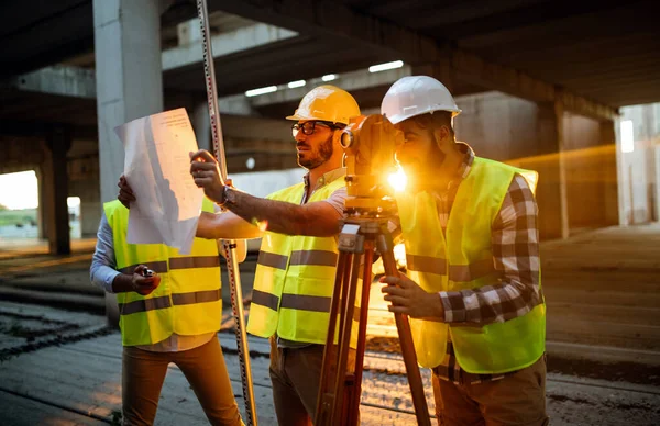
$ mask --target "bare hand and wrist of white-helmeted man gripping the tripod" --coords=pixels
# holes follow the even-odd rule
[[[444,320],[442,300],[438,293],[427,293],[415,281],[400,273],[398,277],[383,277],[381,291],[385,300],[392,302],[389,312],[406,314],[414,318]]]

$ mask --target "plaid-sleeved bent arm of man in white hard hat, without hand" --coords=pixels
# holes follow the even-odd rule
[[[491,240],[495,285],[440,292],[443,321],[485,325],[522,316],[542,303],[538,206],[527,181],[516,175],[493,223]]]

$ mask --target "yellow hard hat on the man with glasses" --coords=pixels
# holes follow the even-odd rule
[[[331,123],[349,124],[352,117],[360,115],[360,107],[345,90],[323,85],[307,93],[294,115],[286,120],[319,120]]]

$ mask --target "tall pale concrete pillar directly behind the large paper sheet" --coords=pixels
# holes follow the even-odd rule
[[[158,0],[94,0],[101,202],[117,197],[124,153],[113,128],[163,111]],[[119,312],[106,294],[106,313]]]

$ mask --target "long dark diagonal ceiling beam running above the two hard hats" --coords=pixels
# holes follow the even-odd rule
[[[209,9],[268,22],[306,35],[331,37],[338,43],[350,43],[359,48],[377,51],[393,60],[402,59],[413,66],[451,64],[454,75],[461,80],[536,102],[560,101],[564,103],[565,111],[597,120],[612,120],[618,115],[618,111],[609,105],[560,90],[550,82],[515,68],[490,63],[460,48],[441,46],[432,37],[375,16],[358,13],[338,2],[211,0]]]

